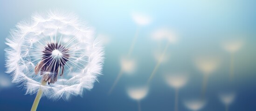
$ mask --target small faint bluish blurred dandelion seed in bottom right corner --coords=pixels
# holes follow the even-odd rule
[[[225,105],[226,111],[228,111],[228,106],[235,100],[235,93],[221,93],[219,97],[221,102]]]

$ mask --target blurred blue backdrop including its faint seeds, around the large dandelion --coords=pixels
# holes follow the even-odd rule
[[[5,38],[49,9],[88,21],[106,59],[91,91],[38,111],[174,111],[175,91],[179,111],[256,111],[256,0],[0,0],[0,111],[35,99],[5,73]]]

